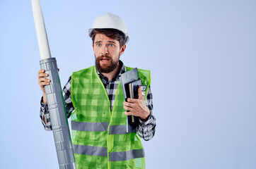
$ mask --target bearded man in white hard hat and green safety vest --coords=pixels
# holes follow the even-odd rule
[[[146,84],[146,102],[124,101],[119,76],[132,68],[124,66],[120,56],[129,41],[124,20],[106,13],[95,19],[89,30],[93,40],[95,66],[77,71],[63,89],[67,117],[71,116],[71,137],[77,168],[146,168],[140,138],[153,137],[153,115],[149,70],[139,70]],[[42,89],[40,118],[45,130],[52,130],[44,86],[50,84],[45,70],[38,71]],[[127,115],[139,117],[136,130],[126,132]],[[138,137],[139,135],[139,137]]]

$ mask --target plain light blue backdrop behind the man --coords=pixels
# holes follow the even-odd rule
[[[122,61],[151,70],[156,135],[147,168],[256,168],[256,1],[41,1],[62,87],[94,64],[88,28],[127,23]],[[40,54],[30,1],[0,1],[0,168],[58,168],[40,122]]]

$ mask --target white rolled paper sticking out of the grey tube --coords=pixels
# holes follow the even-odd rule
[[[35,21],[35,31],[37,32],[37,42],[39,46],[41,60],[51,58],[50,46],[48,43],[45,22],[42,16],[40,0],[31,0],[33,16]]]

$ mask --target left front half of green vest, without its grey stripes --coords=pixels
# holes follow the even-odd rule
[[[105,88],[103,83],[95,73],[95,67],[73,73],[71,78],[71,97],[75,108],[71,120],[85,123],[110,122],[110,102],[103,90]],[[71,137],[73,144],[107,147],[107,132],[85,132],[72,128]],[[88,153],[76,152],[78,148],[74,147],[77,168],[97,168],[97,161],[100,158],[102,161],[99,161],[100,165],[104,165],[102,168],[107,168],[107,156],[91,156]]]

